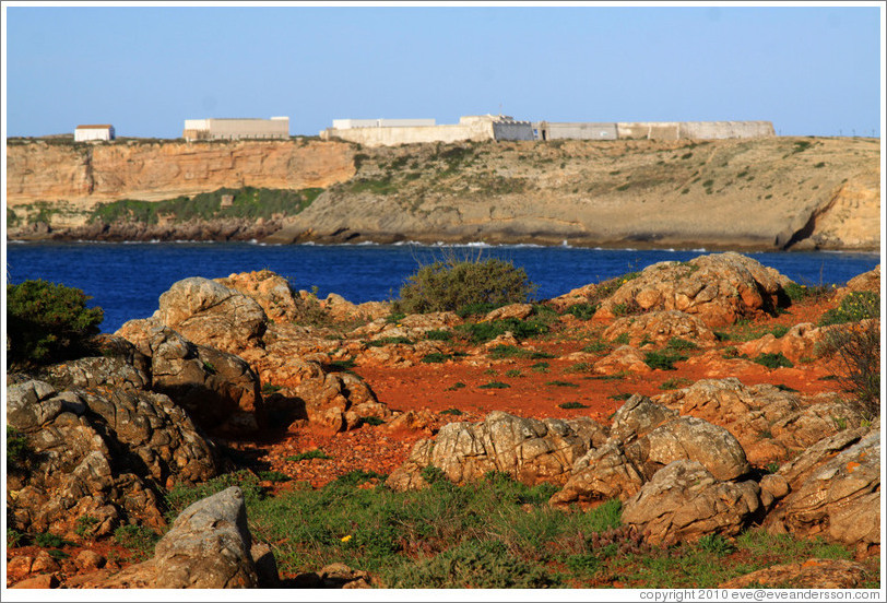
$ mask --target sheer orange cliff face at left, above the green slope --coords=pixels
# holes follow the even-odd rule
[[[353,146],[318,142],[7,145],[10,205],[159,201],[222,187],[326,188],[354,175]]]

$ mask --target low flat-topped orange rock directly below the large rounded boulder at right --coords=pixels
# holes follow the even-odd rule
[[[711,347],[718,341],[698,317],[678,310],[653,310],[636,317],[617,318],[602,334],[607,341],[619,335],[628,336],[628,342],[635,347],[639,347],[643,341],[662,346],[672,338],[696,343],[699,347]]]

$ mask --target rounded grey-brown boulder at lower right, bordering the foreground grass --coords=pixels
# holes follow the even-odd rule
[[[629,498],[623,522],[651,544],[671,545],[708,534],[733,536],[760,509],[755,482],[721,482],[699,462],[675,461],[657,472]]]

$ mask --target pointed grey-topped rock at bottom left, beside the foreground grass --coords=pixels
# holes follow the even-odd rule
[[[113,576],[104,588],[259,588],[244,494],[232,486],[186,508],[154,557]]]

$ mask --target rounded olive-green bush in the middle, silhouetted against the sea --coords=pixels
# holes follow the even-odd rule
[[[527,303],[536,286],[522,268],[495,258],[457,261],[450,258],[424,265],[407,279],[394,302],[398,311],[457,311],[473,304]]]

